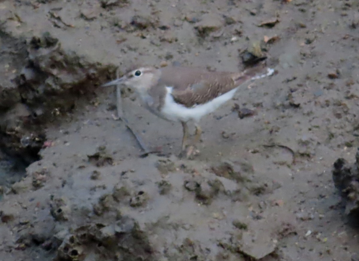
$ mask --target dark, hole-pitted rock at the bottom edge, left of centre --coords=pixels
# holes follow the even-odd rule
[[[71,229],[71,233],[63,230],[54,237],[61,242],[56,260],[92,260],[96,256],[115,256],[114,260],[153,260],[147,234],[129,217],[110,224],[86,224]]]

